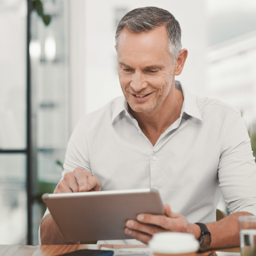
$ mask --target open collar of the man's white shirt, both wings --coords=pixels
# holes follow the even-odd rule
[[[191,92],[189,92],[189,90],[182,86],[179,81],[175,81],[175,88],[183,92],[184,102],[182,111],[185,112],[187,115],[190,115],[202,121],[203,119],[196,104],[195,95],[193,95]],[[121,114],[122,111],[125,111],[129,115],[128,104],[124,96],[121,96],[117,99],[111,122],[114,122],[116,116]]]

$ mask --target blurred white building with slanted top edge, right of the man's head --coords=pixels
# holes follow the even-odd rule
[[[208,88],[212,97],[242,112],[247,128],[256,121],[256,31],[208,52]]]

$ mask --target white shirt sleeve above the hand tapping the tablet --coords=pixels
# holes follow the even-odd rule
[[[65,173],[72,172],[77,167],[92,173],[89,163],[88,143],[85,131],[83,131],[82,119],[80,119],[76,128],[74,128],[73,134],[67,144],[67,152],[63,167],[62,179]]]

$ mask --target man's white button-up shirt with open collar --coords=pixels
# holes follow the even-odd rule
[[[240,112],[194,96],[179,82],[176,88],[184,96],[180,118],[154,147],[124,96],[83,116],[62,175],[80,167],[101,180],[102,190],[157,188],[163,203],[189,222],[216,221],[221,192],[229,212],[256,215],[256,164]]]

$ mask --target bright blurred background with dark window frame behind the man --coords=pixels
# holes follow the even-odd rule
[[[145,6],[180,22],[176,80],[239,109],[256,153],[255,0],[0,0],[0,244],[38,244],[74,126],[122,95],[116,26]]]

